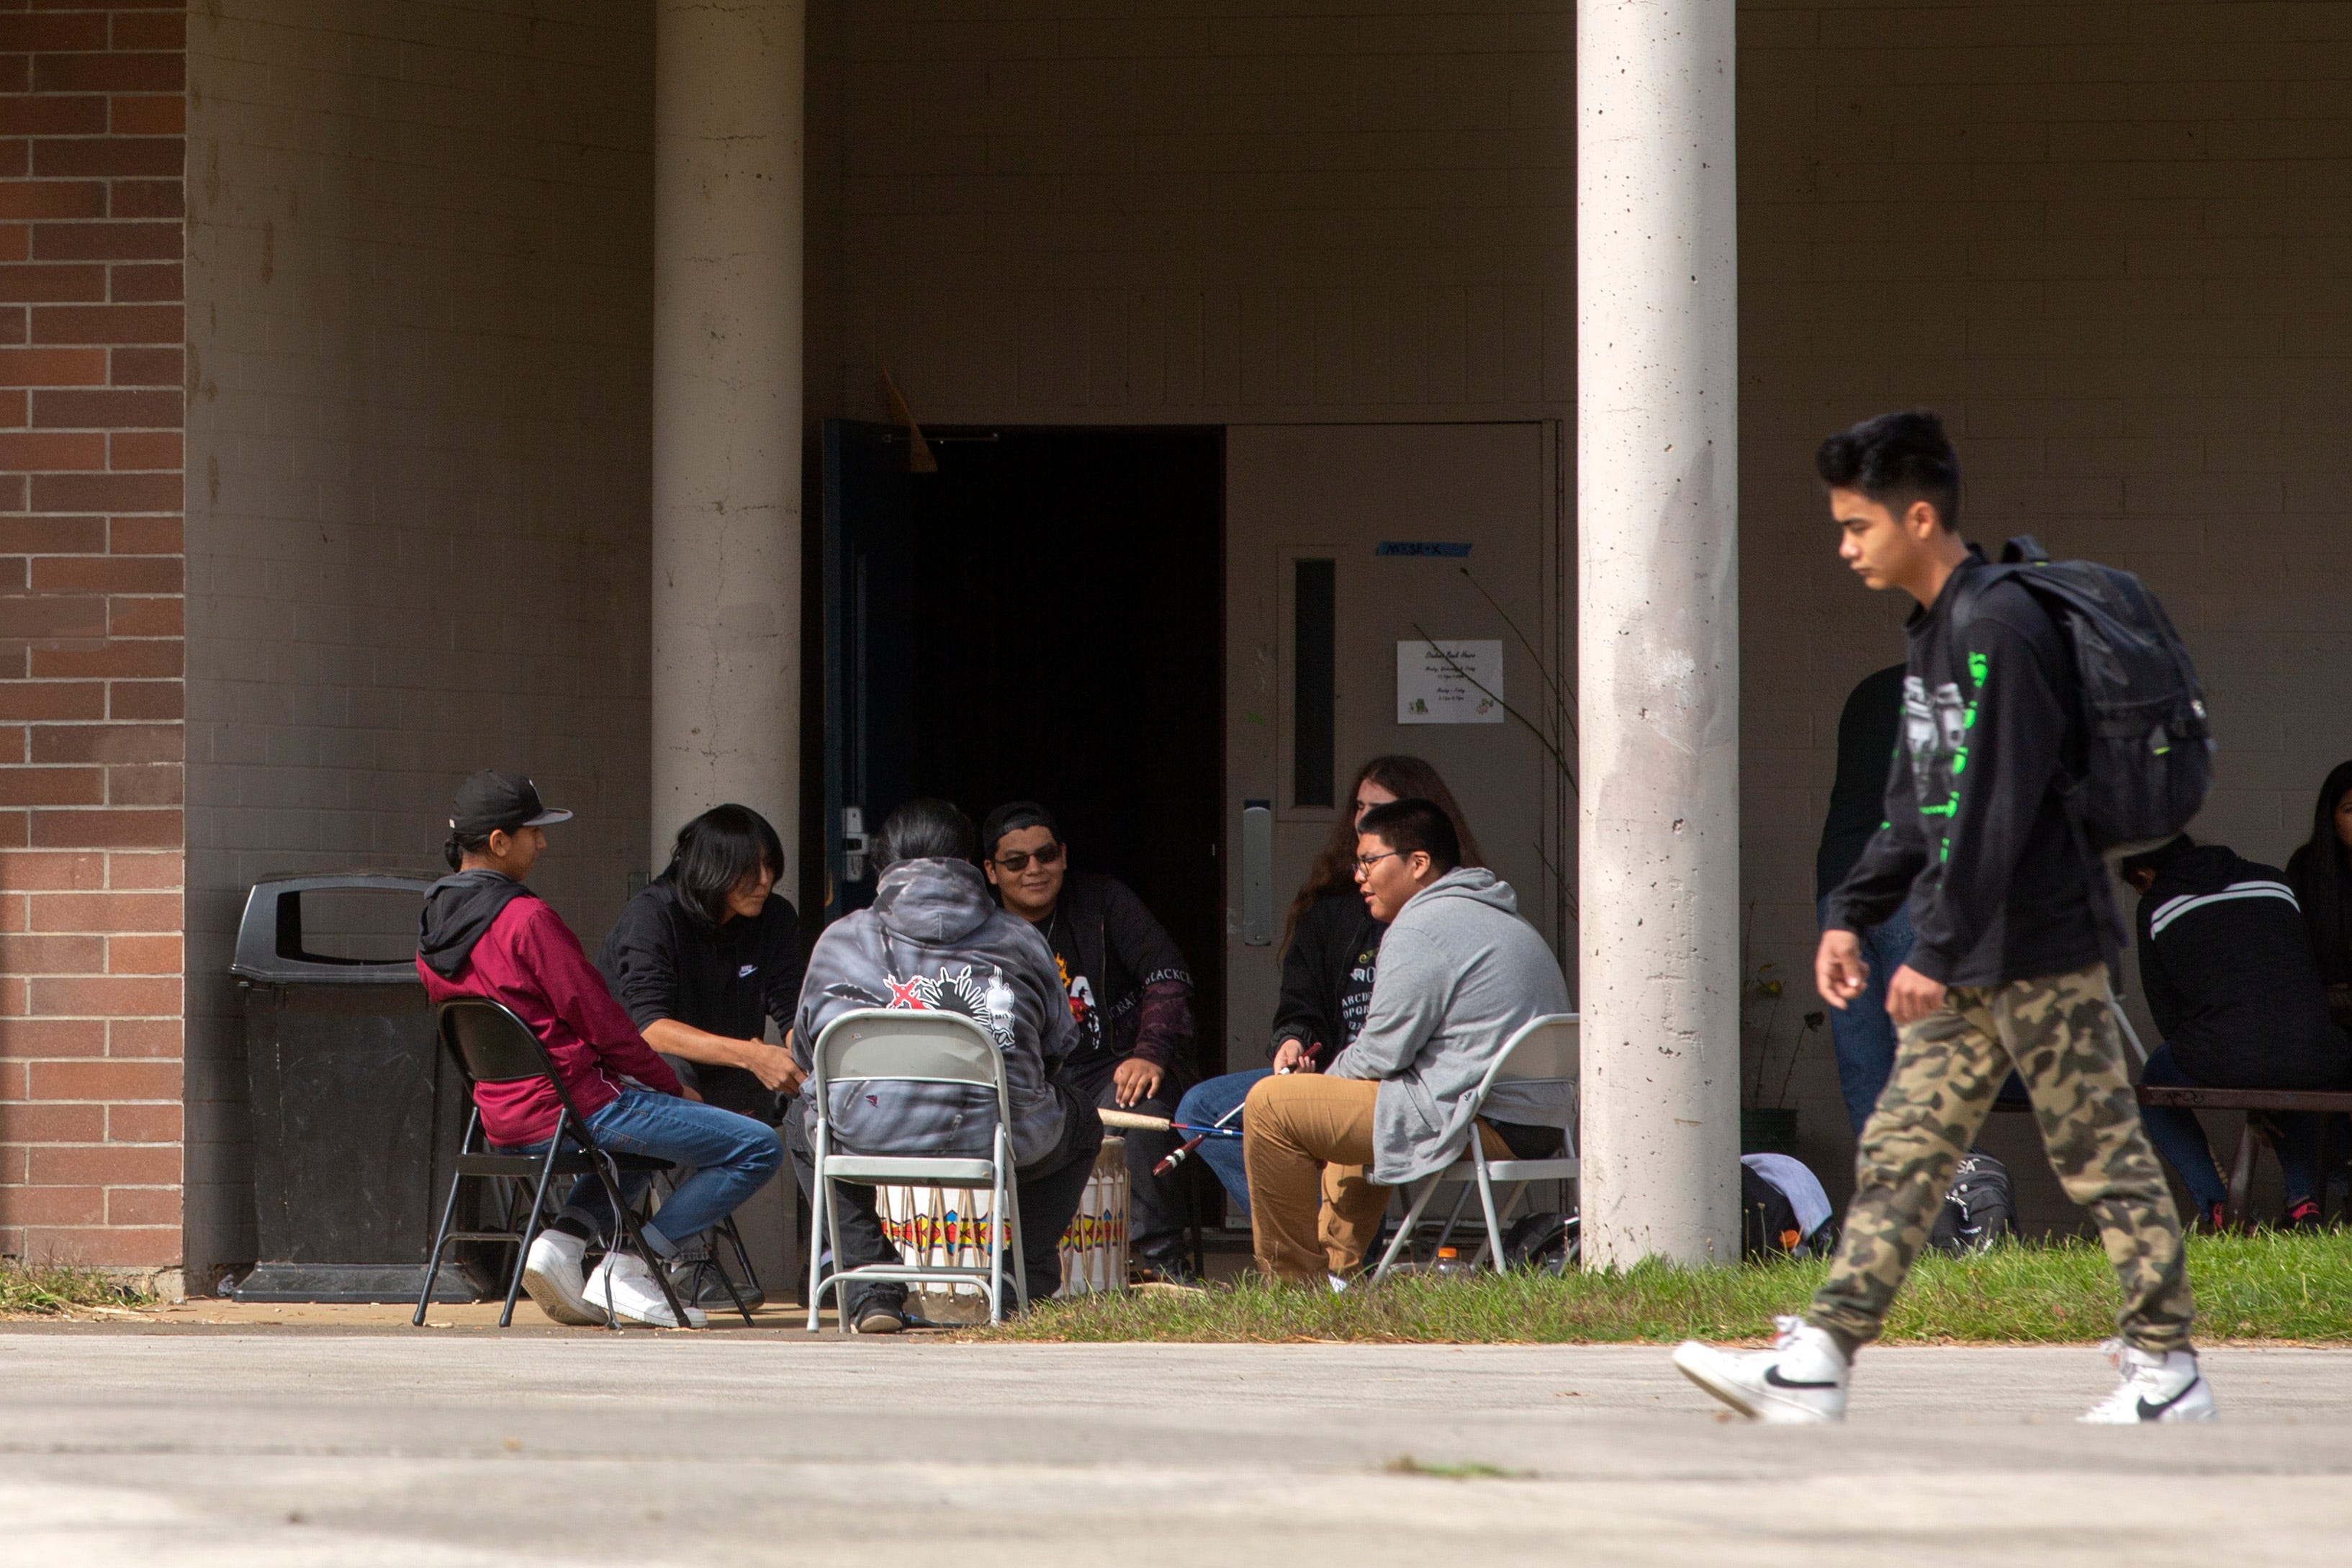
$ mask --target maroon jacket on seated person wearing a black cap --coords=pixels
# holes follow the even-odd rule
[[[456,884],[459,877],[449,877]],[[445,884],[447,886],[447,884]],[[440,893],[442,889],[435,889]],[[572,1105],[583,1117],[593,1117],[621,1098],[621,1077],[633,1077],[647,1088],[675,1095],[677,1074],[654,1056],[654,1048],[637,1034],[621,1004],[604,987],[604,976],[595,971],[572,926],[529,891],[499,889],[503,907],[489,926],[473,938],[470,952],[456,966],[456,978],[445,978],[416,957],[416,973],[426,983],[426,997],[435,1004],[452,997],[487,997],[513,1009],[515,1018],[532,1027],[539,1044],[548,1048],[555,1074],[572,1095]],[[426,924],[433,924],[428,900]],[[426,943],[435,950],[435,943]],[[445,952],[435,952],[447,964]],[[480,1084],[473,1103],[482,1107],[482,1133],[496,1145],[543,1143],[555,1135],[562,1105],[546,1079],[520,1084]]]

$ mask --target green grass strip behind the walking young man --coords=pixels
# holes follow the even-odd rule
[[[1755,1340],[1797,1312],[1823,1262],[1736,1269],[1639,1265],[1590,1274],[1397,1276],[1378,1291],[1305,1291],[1254,1274],[1202,1293],[1082,1295],[981,1340],[1371,1340],[1442,1345],[1609,1345]],[[2352,1345],[2352,1234],[2192,1237],[2201,1340]],[[2070,1345],[2114,1333],[2114,1274],[2089,1241],[1926,1255],[1886,1321],[1889,1342]]]

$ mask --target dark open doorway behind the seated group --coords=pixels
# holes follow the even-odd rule
[[[1223,437],[927,435],[927,475],[906,473],[896,433],[828,437],[828,618],[849,628],[828,672],[844,736],[828,809],[858,806],[873,832],[910,795],[974,820],[1044,802],[1073,865],[1127,882],[1183,947],[1200,1067],[1218,1072]],[[873,896],[849,870],[835,907]]]

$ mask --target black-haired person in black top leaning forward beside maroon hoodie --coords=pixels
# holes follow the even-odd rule
[[[750,806],[713,806],[677,830],[670,865],[628,900],[597,952],[644,1044],[703,1100],[774,1126],[800,1063],[767,1039],[800,1006],[800,914],[776,893],[783,842]]]

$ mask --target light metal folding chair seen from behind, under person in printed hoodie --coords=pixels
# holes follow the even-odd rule
[[[816,1103],[816,1192],[809,1208],[809,1333],[826,1291],[835,1293],[842,1333],[849,1321],[851,1281],[978,1284],[988,1293],[988,1321],[1004,1321],[1004,1255],[1014,1258],[1014,1295],[1028,1307],[1028,1272],[1021,1267],[1021,1208],[1014,1190],[1011,1105],[1004,1088],[1004,1053],[995,1037],[962,1013],[910,1009],[854,1009],[823,1027],[811,1056],[809,1093]],[[950,1154],[837,1154],[833,1150],[833,1081],[866,1084],[969,1084],[997,1098],[997,1128],[988,1159]],[[842,1215],[833,1182],[861,1187],[931,1182],[988,1192],[988,1267],[870,1262],[842,1269]],[[816,1246],[821,1237],[826,1246]],[[826,1248],[833,1274],[823,1272]]]

